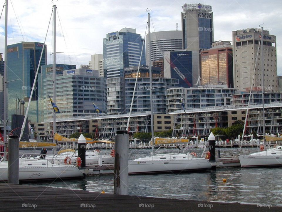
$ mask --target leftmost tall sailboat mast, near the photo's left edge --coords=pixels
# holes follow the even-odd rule
[[[4,140],[4,160],[6,160],[7,146],[7,37],[8,37],[8,0],[5,4],[5,57],[4,57],[4,114],[3,114],[3,140]]]

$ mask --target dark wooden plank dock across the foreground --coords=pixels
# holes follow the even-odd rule
[[[239,203],[217,203],[166,198],[93,193],[64,188],[8,185],[0,183],[0,211],[281,211],[281,207],[257,207]]]

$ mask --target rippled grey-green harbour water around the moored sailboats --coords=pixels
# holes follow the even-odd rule
[[[221,157],[238,155],[238,148],[220,148]],[[258,148],[243,148],[245,154]],[[106,150],[103,150],[106,151]],[[190,149],[201,154],[203,149]],[[130,149],[133,158],[150,155],[150,149]],[[177,149],[160,149],[158,153]],[[218,148],[216,148],[216,153]],[[218,168],[199,173],[130,175],[129,195],[199,201],[238,202],[282,206],[281,168]],[[226,179],[224,183],[222,180]],[[83,180],[32,183],[91,192],[113,193],[113,175],[91,176]]]

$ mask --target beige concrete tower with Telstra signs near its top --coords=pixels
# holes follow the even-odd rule
[[[240,91],[250,91],[252,84],[253,90],[261,90],[262,69],[261,44],[259,44],[260,37],[261,30],[258,28],[248,28],[232,32],[234,88]],[[263,55],[264,90],[266,92],[277,92],[276,36],[270,35],[267,30],[263,30]],[[255,67],[257,56],[258,60]],[[252,82],[253,74],[254,82]]]

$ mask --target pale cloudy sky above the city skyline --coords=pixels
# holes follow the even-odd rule
[[[103,38],[124,27],[135,28],[144,38],[146,9],[151,10],[151,32],[181,30],[182,5],[201,3],[212,6],[214,41],[232,41],[232,30],[256,28],[264,24],[277,40],[277,70],[282,75],[281,1],[179,1],[179,0],[58,0],[56,19],[57,63],[88,64],[92,54],[103,54]],[[8,1],[8,45],[44,42],[53,9],[51,0]],[[0,0],[0,8],[4,0]],[[0,20],[0,53],[4,52],[5,9]],[[53,63],[53,17],[48,31],[47,63]]]

